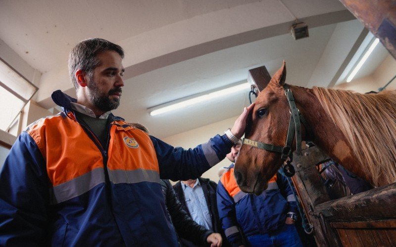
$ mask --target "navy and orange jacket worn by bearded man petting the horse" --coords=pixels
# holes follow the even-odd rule
[[[64,111],[23,131],[0,173],[0,246],[177,246],[160,178],[199,177],[232,143],[174,148],[109,115],[107,147]]]

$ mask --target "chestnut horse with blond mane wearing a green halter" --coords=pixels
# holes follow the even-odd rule
[[[286,96],[289,89],[288,93],[292,93],[289,101],[294,99],[300,119],[304,120],[300,127],[296,122],[300,141],[310,138],[334,161],[375,186],[396,182],[395,90],[360,94],[319,87],[308,89],[287,85],[285,79],[283,62],[282,68],[259,93],[251,112],[245,133],[247,139],[234,170],[242,191],[261,194],[284,163],[280,150],[288,138],[289,121],[293,122],[292,105]],[[289,142],[292,151],[295,150],[296,138]],[[257,143],[267,148],[258,148]],[[279,149],[274,152],[268,145]],[[286,158],[285,155],[282,158]]]

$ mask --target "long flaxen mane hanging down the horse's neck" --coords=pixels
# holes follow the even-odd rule
[[[314,95],[347,138],[359,165],[379,178],[396,181],[396,90],[378,94],[314,87]],[[381,181],[384,182],[384,181]]]

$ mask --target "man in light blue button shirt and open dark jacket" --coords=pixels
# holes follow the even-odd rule
[[[223,236],[223,246],[230,246],[225,240],[217,211],[217,184],[207,178],[199,177],[198,179],[179,181],[173,188],[183,209],[191,218],[206,229],[220,233]],[[186,239],[182,238],[181,241],[185,246],[196,246]]]

